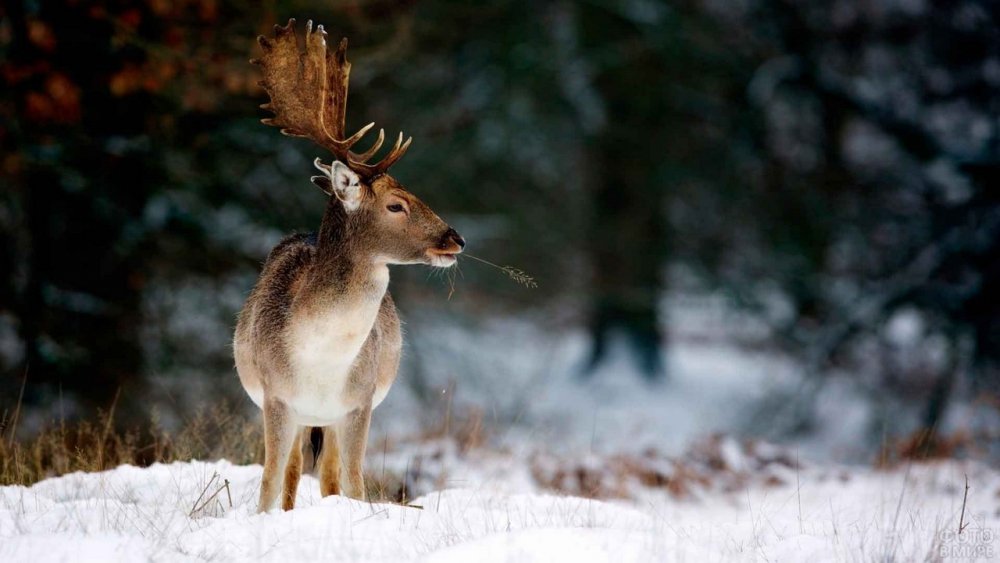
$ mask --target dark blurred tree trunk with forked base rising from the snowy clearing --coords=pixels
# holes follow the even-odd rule
[[[593,349],[587,372],[606,359],[611,337],[620,334],[641,373],[655,379],[665,369],[658,305],[667,259],[664,191],[670,182],[657,170],[661,159],[674,157],[667,132],[678,123],[669,96],[673,69],[657,57],[642,26],[659,26],[664,34],[671,30],[659,21],[663,13],[646,14],[653,21],[640,22],[612,5],[585,5],[579,12],[583,59],[578,64],[592,69],[588,86],[599,104],[591,110],[599,112],[595,123],[584,122],[585,187],[593,192],[588,229]],[[660,95],[636,95],[646,89]]]

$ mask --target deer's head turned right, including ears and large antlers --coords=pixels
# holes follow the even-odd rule
[[[314,164],[323,174],[313,176],[312,181],[330,195],[333,211],[344,215],[345,228],[349,227],[350,236],[356,239],[352,242],[380,262],[453,265],[465,240],[387,173],[413,139],[403,142],[400,133],[389,154],[377,163],[368,161],[382,147],[385,130],[379,130],[375,143],[365,152],[351,151],[375,124],[346,135],[351,72],[347,39],[331,53],[323,26],[313,30],[310,21],[305,48],[300,49],[293,19],[284,27],[275,26],[273,39],[261,36],[258,42],[264,55],[251,62],[262,67],[261,86],[271,98],[261,107],[274,113],[273,118],[262,121],[280,127],[285,135],[308,138],[333,154],[335,160],[329,165],[316,159]]]

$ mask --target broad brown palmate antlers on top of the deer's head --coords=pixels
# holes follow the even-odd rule
[[[379,129],[378,139],[370,149],[360,154],[351,151],[375,123],[346,136],[347,84],[351,74],[346,37],[331,53],[326,48],[323,26],[316,26],[313,31],[310,20],[306,23],[305,50],[301,50],[293,18],[284,27],[274,26],[273,39],[261,35],[257,42],[264,56],[250,62],[263,70],[264,79],[260,85],[271,98],[270,103],[260,107],[274,113],[273,118],[262,119],[261,123],[280,127],[284,135],[312,140],[366,179],[385,174],[410,148],[413,137],[404,143],[400,133],[396,145],[385,158],[368,164],[368,159],[385,140],[385,130]]]

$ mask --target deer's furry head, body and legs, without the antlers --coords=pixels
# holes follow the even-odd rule
[[[320,184],[334,196],[319,234],[289,236],[271,251],[236,327],[234,354],[240,381],[264,412],[260,511],[270,509],[281,492],[282,508],[294,506],[302,434],[311,426],[323,427],[317,461],[323,495],[343,490],[364,498],[362,466],[373,403],[395,380],[402,348],[396,307],[386,291],[386,267],[450,265],[464,245],[454,230],[389,176],[360,184],[357,202],[348,202],[345,198],[350,195],[332,185]],[[358,204],[356,209],[348,211],[353,203]],[[404,205],[405,212],[391,211],[394,205]],[[343,330],[344,338],[357,337],[351,327],[368,326],[368,311],[374,311],[371,328],[326,416],[309,399],[314,391],[317,396],[325,392],[328,382],[317,379],[315,364],[309,364],[307,373],[305,364],[296,360],[311,357],[302,356],[306,352],[322,357],[323,349],[311,344],[313,340],[304,344],[303,338],[318,336],[316,341],[322,342],[323,335],[309,332],[312,327],[331,327]],[[339,342],[329,345],[336,348]],[[333,382],[339,376],[334,370],[330,377]],[[346,414],[338,414],[334,403]],[[296,405],[308,409],[297,410]]]

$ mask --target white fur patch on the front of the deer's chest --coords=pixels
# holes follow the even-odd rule
[[[347,400],[356,395],[348,384],[389,283],[388,269],[382,270],[373,280],[376,291],[363,299],[302,313],[289,327],[293,384],[285,399],[300,424],[330,424],[357,407]]]

